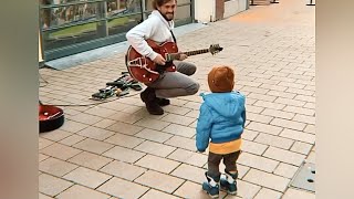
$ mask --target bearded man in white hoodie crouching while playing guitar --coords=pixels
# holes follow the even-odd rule
[[[139,54],[159,65],[165,65],[165,59],[154,52],[145,40],[150,39],[158,44],[175,40],[171,30],[176,7],[176,0],[153,0],[154,11],[148,19],[126,33],[128,43]],[[157,81],[148,84],[147,88],[140,93],[140,98],[149,114],[163,115],[162,106],[169,104],[167,98],[194,95],[198,92],[199,84],[189,77],[197,67],[194,64],[181,62],[185,59],[187,55],[181,54],[179,61],[174,62],[177,67],[176,72],[163,72]]]

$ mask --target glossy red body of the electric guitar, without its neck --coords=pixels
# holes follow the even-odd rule
[[[178,53],[178,48],[174,42],[165,42],[160,45],[156,44],[153,40],[146,40],[146,42],[156,53],[165,59],[167,54]],[[162,71],[176,71],[173,61],[166,62],[166,65],[157,65],[150,59],[139,54],[133,46],[129,46],[127,51],[126,66],[132,77],[144,84],[150,84],[158,80],[159,72]]]

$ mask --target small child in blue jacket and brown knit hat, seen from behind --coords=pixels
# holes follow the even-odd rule
[[[201,94],[197,123],[197,149],[204,153],[209,145],[207,182],[202,189],[212,198],[219,196],[219,182],[230,195],[237,192],[238,170],[236,161],[240,155],[241,134],[246,122],[244,96],[235,92],[235,73],[228,66],[214,67],[208,74],[212,93]],[[220,180],[219,165],[226,166],[226,178]]]

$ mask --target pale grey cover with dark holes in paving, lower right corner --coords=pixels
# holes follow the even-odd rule
[[[304,189],[315,192],[315,165],[311,163],[303,164],[292,179],[290,187]]]

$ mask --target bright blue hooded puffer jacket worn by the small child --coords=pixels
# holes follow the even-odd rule
[[[246,123],[244,96],[239,92],[201,94],[197,123],[197,149],[205,151],[211,143],[239,139]]]

